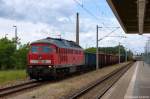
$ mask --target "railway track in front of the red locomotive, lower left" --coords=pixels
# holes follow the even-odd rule
[[[12,94],[15,94],[17,92],[26,90],[26,89],[31,89],[37,86],[42,85],[42,82],[35,81],[35,80],[30,80],[21,84],[5,87],[0,89],[0,98],[6,97]]]

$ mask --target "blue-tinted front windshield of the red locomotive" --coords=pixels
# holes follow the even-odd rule
[[[52,49],[49,46],[31,46],[31,52],[37,53],[37,52],[43,52],[43,53],[49,53]]]

